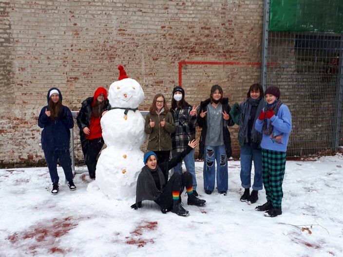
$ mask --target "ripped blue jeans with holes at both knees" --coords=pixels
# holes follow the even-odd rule
[[[204,148],[204,189],[214,190],[215,162],[217,164],[217,189],[219,192],[228,191],[228,157],[224,145],[217,147],[205,146]]]

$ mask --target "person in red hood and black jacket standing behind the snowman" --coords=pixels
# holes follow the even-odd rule
[[[95,180],[96,157],[104,145],[100,119],[108,110],[111,110],[111,105],[107,99],[107,91],[100,87],[94,96],[82,102],[76,117],[83,156],[92,180]]]

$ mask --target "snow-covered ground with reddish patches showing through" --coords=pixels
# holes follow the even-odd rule
[[[204,207],[189,217],[158,208],[130,208],[108,199],[87,173],[76,191],[64,184],[53,196],[46,167],[0,169],[0,257],[332,257],[343,256],[343,156],[287,161],[283,214],[255,211],[240,202],[240,163],[229,162],[229,192],[206,195],[202,162],[196,163]],[[80,167],[78,169],[82,169]]]

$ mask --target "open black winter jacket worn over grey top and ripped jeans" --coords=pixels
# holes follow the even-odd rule
[[[204,112],[207,111],[207,105],[210,103],[210,98],[206,99],[205,101],[202,101],[200,103],[200,110],[199,114],[197,116],[197,122],[198,126],[200,128],[203,128],[201,130],[201,135],[200,135],[200,142],[199,142],[199,160],[203,159],[204,157],[204,148],[205,148],[205,137],[206,137],[206,132],[207,132],[207,116],[205,115],[204,118],[200,116],[201,111],[203,110]],[[231,107],[229,106],[229,98],[222,98],[221,99],[221,104],[222,104],[222,110],[226,111],[226,113],[229,114]],[[225,145],[225,151],[227,157],[231,157],[232,154],[232,149],[231,149],[231,138],[230,138],[230,131],[227,126],[233,126],[235,123],[233,122],[231,116],[227,122],[223,122],[223,135],[224,135],[224,145]]]

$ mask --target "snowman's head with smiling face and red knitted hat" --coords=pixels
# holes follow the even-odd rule
[[[144,100],[144,92],[140,84],[126,76],[123,66],[118,67],[120,71],[119,81],[111,84],[108,91],[108,100],[111,107],[138,108]]]

